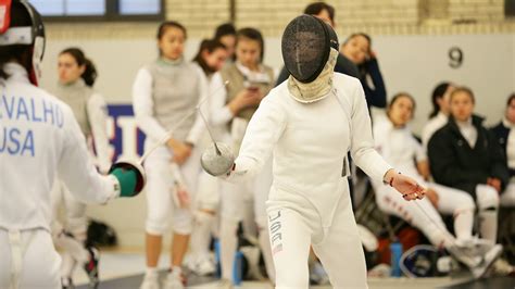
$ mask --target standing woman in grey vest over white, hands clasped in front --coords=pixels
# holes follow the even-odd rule
[[[193,226],[190,200],[194,199],[200,173],[197,144],[204,131],[196,112],[205,99],[206,84],[202,71],[184,59],[186,28],[173,21],[158,29],[160,56],[138,71],[133,85],[133,106],[138,127],[147,135],[145,151],[166,139],[145,161],[148,171],[146,250],[147,273],[141,288],[159,288],[158,263],[162,236],[173,215],[174,237],[171,271],[164,288],[181,288],[186,277],[183,259]]]

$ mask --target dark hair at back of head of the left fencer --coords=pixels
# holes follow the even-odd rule
[[[11,7],[11,25],[10,27],[32,26],[32,18],[28,11],[23,4],[13,2]],[[15,60],[22,66],[30,72],[32,70],[32,47],[27,45],[0,46],[0,77],[8,78],[9,75],[3,67],[9,62]]]

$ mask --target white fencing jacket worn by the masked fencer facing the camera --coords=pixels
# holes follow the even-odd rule
[[[390,169],[374,149],[370,117],[360,80],[335,73],[329,96],[301,103],[287,83],[263,99],[249,123],[229,181],[255,175],[273,152],[275,193],[300,193],[330,226],[339,198],[348,191],[348,151],[369,177],[382,181]],[[282,191],[282,192],[281,192]]]

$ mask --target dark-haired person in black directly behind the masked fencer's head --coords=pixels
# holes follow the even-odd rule
[[[325,2],[314,2],[309,4],[304,9],[304,14],[310,14],[315,17],[318,17],[325,23],[329,24],[332,28],[335,27],[335,8]],[[357,71],[356,65],[341,53],[336,60],[335,72],[360,78],[360,73]],[[286,67],[282,67],[279,73],[279,77],[277,77],[276,86],[288,79],[289,76],[290,75]]]

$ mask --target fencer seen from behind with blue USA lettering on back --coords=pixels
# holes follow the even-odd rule
[[[26,1],[0,3],[0,288],[61,288],[50,234],[56,175],[83,202],[131,197],[145,186],[138,165],[98,174],[73,111],[37,87],[45,51],[39,13]]]

